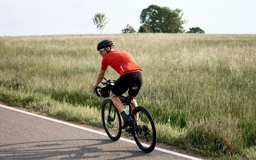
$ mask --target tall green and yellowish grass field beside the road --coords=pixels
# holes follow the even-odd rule
[[[93,94],[102,39],[143,68],[138,103],[157,141],[221,159],[256,159],[256,35],[0,37],[0,100],[102,126]],[[106,77],[118,75],[111,67]]]

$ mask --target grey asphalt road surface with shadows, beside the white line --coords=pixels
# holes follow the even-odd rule
[[[0,159],[187,159],[0,106]]]

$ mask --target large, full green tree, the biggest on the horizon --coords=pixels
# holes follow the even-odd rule
[[[183,12],[180,9],[171,10],[168,7],[152,4],[143,9],[140,14],[143,28],[140,28],[139,32],[182,33],[184,31],[182,24],[186,23],[186,20],[182,20],[182,15]]]

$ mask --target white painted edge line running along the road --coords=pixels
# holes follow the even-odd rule
[[[12,111],[17,111],[17,112],[20,112],[20,113],[24,113],[24,114],[26,114],[26,115],[31,115],[31,116],[36,116],[36,117],[38,117],[38,118],[43,118],[43,119],[45,119],[45,120],[51,120],[52,122],[56,122],[56,123],[59,123],[59,124],[68,125],[68,126],[70,126],[70,127],[76,127],[77,129],[83,129],[84,131],[93,132],[93,133],[96,133],[96,134],[100,134],[100,135],[102,135],[102,136],[108,136],[108,135],[107,135],[106,133],[104,133],[104,132],[99,132],[99,131],[95,131],[95,130],[93,130],[93,129],[88,129],[88,128],[86,128],[86,127],[81,127],[81,126],[79,126],[79,125],[70,124],[70,123],[68,123],[68,122],[63,122],[63,121],[61,121],[61,120],[56,120],[56,119],[54,119],[54,118],[49,118],[49,117],[47,117],[47,116],[36,115],[36,114],[34,114],[34,113],[30,113],[30,112],[27,112],[27,111],[22,111],[22,110],[20,110],[20,109],[10,108],[10,107],[8,107],[8,106],[4,106],[3,104],[0,104],[0,107],[1,107],[1,108],[6,108],[6,109],[10,109],[10,110],[12,110]],[[129,142],[129,143],[134,143],[134,144],[136,144],[135,141],[128,140],[128,139],[126,139],[126,138],[120,138],[120,140]],[[159,151],[161,151],[161,152],[165,152],[165,153],[172,154],[172,155],[179,156],[179,157],[184,157],[184,158],[187,158],[187,159],[202,160],[202,159],[199,159],[199,158],[196,158],[196,157],[188,156],[188,155],[186,155],[186,154],[180,154],[180,153],[178,153],[178,152],[173,152],[173,151],[171,151],[171,150],[166,150],[166,149],[159,148],[159,147],[156,147],[155,150],[159,150]]]

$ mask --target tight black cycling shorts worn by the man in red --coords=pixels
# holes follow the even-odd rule
[[[140,92],[143,83],[143,74],[141,71],[124,74],[118,79],[112,88],[112,93],[115,95],[122,95],[128,89],[130,97],[136,97]]]

